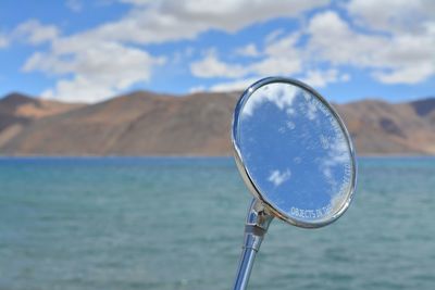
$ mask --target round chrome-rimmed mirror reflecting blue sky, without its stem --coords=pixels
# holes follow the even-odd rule
[[[274,77],[250,86],[236,105],[233,144],[250,191],[281,219],[321,227],[349,206],[353,147],[338,114],[309,86]]]

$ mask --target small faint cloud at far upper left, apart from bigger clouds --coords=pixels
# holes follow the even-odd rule
[[[14,38],[24,39],[30,45],[40,45],[51,41],[59,36],[55,25],[42,25],[37,20],[29,20],[20,24],[12,33]]]

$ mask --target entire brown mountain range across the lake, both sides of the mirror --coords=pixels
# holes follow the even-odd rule
[[[239,93],[138,91],[91,104],[0,100],[3,155],[228,155]],[[435,98],[336,105],[359,154],[435,154]]]

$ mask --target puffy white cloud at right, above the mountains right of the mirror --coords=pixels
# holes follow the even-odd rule
[[[415,84],[435,72],[435,33],[427,27],[421,34],[362,34],[326,11],[310,21],[307,49],[316,62],[370,68],[382,83]]]

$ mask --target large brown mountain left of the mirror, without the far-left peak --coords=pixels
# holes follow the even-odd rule
[[[235,94],[135,92],[26,126],[2,154],[228,154]]]

